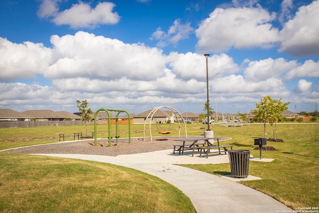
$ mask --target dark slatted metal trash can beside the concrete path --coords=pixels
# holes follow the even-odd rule
[[[229,163],[233,178],[247,178],[250,150],[229,150]]]

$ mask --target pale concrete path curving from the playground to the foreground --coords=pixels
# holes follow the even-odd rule
[[[231,177],[218,177],[205,172],[173,164],[220,164],[229,163],[228,155],[191,157],[191,152],[184,155],[172,154],[172,150],[149,153],[120,155],[117,157],[77,154],[38,154],[53,157],[82,159],[110,163],[140,170],[159,177],[181,190],[192,202],[197,213],[276,213],[292,211],[279,201],[246,187]],[[251,161],[271,161],[272,159],[254,159]],[[256,180],[248,176],[244,180]]]

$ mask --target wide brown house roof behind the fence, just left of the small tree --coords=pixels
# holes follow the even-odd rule
[[[22,113],[34,118],[81,118],[78,115],[66,111],[54,112],[51,110],[27,110]]]

